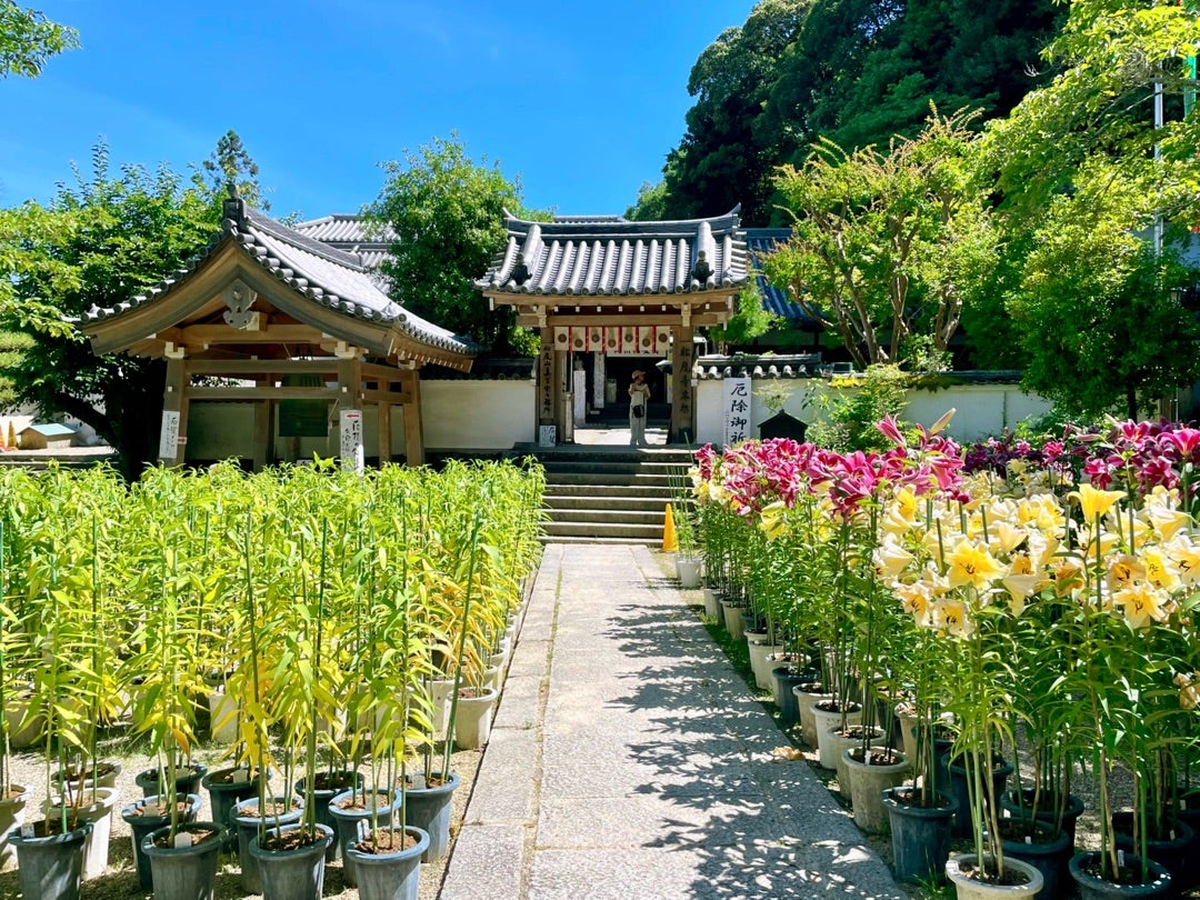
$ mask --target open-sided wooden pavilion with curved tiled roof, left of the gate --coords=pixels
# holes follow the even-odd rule
[[[312,240],[232,192],[221,233],[186,268],[131,302],[79,322],[95,353],[164,359],[158,458],[184,462],[193,401],[254,403],[254,468],[270,460],[280,402],[325,404],[343,464],[361,467],[362,409],[378,407],[380,462],[392,458],[391,410],[404,457],[424,462],[420,380],[433,362],[468,371],[478,348],[388,298],[364,259]]]

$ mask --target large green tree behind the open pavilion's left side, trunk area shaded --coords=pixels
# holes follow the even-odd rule
[[[95,149],[90,179],[76,172],[46,206],[0,210],[0,329],[31,346],[0,360],[0,378],[43,415],[86,422],[136,476],[154,458],[162,410],[161,361],[97,358],[67,320],[125,302],[179,269],[217,227],[220,208],[194,180],[163,166],[150,173]]]

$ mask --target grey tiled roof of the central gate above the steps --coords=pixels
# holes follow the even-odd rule
[[[508,216],[509,239],[484,290],[518,294],[644,295],[737,289],[746,248],[737,210],[718,218],[630,222],[620,216]],[[708,266],[697,277],[700,254]]]

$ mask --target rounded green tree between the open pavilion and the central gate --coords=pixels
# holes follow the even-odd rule
[[[391,296],[497,354],[532,352],[535,344],[515,326],[515,313],[490,310],[475,287],[504,250],[505,210],[529,215],[522,211],[520,179],[510,181],[486,157],[472,161],[457,134],[406,151],[383,169],[383,190],[366,214],[396,235],[380,266]]]

